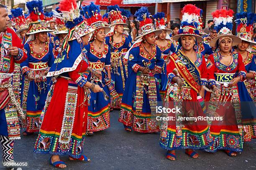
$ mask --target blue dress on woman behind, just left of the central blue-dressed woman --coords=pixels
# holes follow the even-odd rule
[[[106,44],[110,46],[111,52],[111,79],[113,81],[117,97],[111,95],[111,108],[120,109],[121,100],[123,97],[123,90],[125,88],[125,81],[127,72],[123,64],[123,53],[127,52],[131,47],[131,42],[124,34],[121,35],[122,40],[120,43],[113,42],[113,36],[106,37]]]

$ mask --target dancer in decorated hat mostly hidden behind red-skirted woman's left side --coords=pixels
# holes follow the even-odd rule
[[[59,7],[56,7],[54,12],[61,13],[59,11]],[[65,26],[64,21],[62,19],[60,19],[60,18],[56,18],[56,27],[57,27],[57,29],[54,31],[54,34],[56,36],[54,37],[54,42],[53,42],[53,53],[54,53],[54,57],[55,58],[59,54],[59,50],[60,50],[59,45],[63,42],[64,37],[68,33],[68,29]]]

